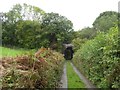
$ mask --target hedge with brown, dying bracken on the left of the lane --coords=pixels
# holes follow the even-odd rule
[[[35,55],[2,58],[2,87],[59,87],[64,58],[58,52],[41,48]]]

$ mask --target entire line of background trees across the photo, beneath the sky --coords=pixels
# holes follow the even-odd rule
[[[50,47],[60,50],[63,43],[75,44],[76,50],[98,32],[107,32],[118,23],[118,13],[106,11],[99,15],[93,27],[73,30],[73,24],[58,13],[45,13],[42,9],[16,4],[2,17],[2,43],[23,48]],[[80,42],[78,44],[78,42]]]

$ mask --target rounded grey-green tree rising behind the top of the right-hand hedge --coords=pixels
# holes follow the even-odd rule
[[[107,32],[111,27],[118,23],[118,13],[114,11],[106,11],[101,13],[93,23],[93,27],[97,31]]]

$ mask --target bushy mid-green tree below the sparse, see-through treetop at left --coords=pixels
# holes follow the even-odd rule
[[[15,31],[19,47],[23,48],[39,48],[40,40],[40,24],[36,21],[24,20],[17,22],[17,30]]]

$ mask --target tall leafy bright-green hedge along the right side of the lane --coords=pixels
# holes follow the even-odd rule
[[[101,32],[75,53],[76,67],[99,88],[120,88],[118,27]]]

